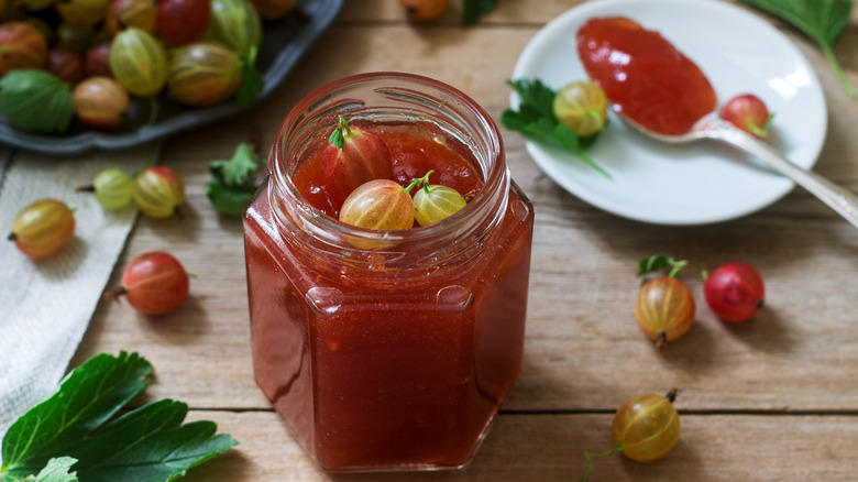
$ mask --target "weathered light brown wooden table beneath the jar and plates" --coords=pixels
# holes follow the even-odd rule
[[[168,250],[198,277],[175,313],[150,318],[103,302],[73,366],[99,353],[138,351],[155,366],[146,399],[186,401],[241,445],[194,469],[190,481],[561,481],[578,480],[584,450],[610,448],[613,413],[627,397],[681,388],[682,435],[661,461],[596,461],[593,481],[853,481],[858,470],[858,233],[803,189],[741,219],[698,227],[639,223],[603,212],[541,174],[521,136],[504,130],[514,178],[536,207],[524,372],[473,463],[463,471],[330,475],[289,436],[253,381],[242,229],[205,196],[208,163],[237,143],[264,140],[316,87],[369,70],[424,74],[462,89],[498,118],[518,54],[575,0],[501,0],[462,28],[458,4],[442,22],[404,22],[393,0],[348,1],[340,19],[264,105],[167,141],[161,162],[187,182],[187,218],[140,217],[113,273],[135,255]],[[816,171],[858,189],[858,101],[847,98],[822,53],[768,18],[816,69],[829,107]],[[835,53],[858,84],[858,14]],[[690,261],[697,297],[691,331],[662,352],[638,330],[637,261],[667,252]],[[721,322],[696,275],[722,262],[756,265],[766,309]]]

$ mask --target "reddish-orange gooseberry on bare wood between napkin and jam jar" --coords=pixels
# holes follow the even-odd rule
[[[135,258],[122,272],[120,286],[109,289],[105,297],[128,303],[146,315],[164,315],[178,308],[187,298],[190,283],[188,273],[169,253],[153,251]]]

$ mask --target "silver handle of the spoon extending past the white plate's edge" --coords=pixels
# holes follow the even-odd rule
[[[719,139],[754,155],[772,169],[791,178],[843,216],[854,227],[858,228],[858,196],[843,186],[832,183],[825,177],[807,171],[788,161],[769,144],[736,129],[726,121],[718,120],[707,129],[708,136]]]

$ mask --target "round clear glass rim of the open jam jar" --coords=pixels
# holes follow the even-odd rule
[[[289,136],[298,130],[300,124],[308,121],[306,116],[307,112],[317,109],[327,98],[331,98],[333,92],[348,89],[354,85],[380,81],[396,81],[404,84],[406,87],[424,87],[435,90],[449,97],[451,102],[460,105],[479,124],[477,128],[480,128],[482,131],[481,133],[484,134],[481,141],[485,143],[486,156],[484,160],[477,160],[481,167],[481,174],[483,175],[483,189],[481,189],[476,196],[474,196],[474,198],[455,215],[429,226],[397,231],[380,231],[360,228],[346,224],[312,206],[299,193],[293,182],[292,172],[287,168],[289,162],[293,160],[288,158],[286,143],[289,140]],[[351,240],[384,241],[385,245],[389,245],[391,242],[397,241],[425,241],[446,237],[451,230],[459,231],[460,228],[476,223],[486,216],[499,217],[499,215],[503,213],[503,207],[494,206],[497,208],[496,210],[492,209],[492,207],[496,204],[498,195],[504,195],[509,186],[509,176],[504,158],[503,138],[501,136],[497,124],[488,112],[471,97],[455,87],[430,77],[400,72],[356,74],[326,84],[307,95],[295,105],[286,118],[284,118],[283,123],[277,130],[277,135],[270,155],[268,174],[275,183],[276,189],[274,190],[280,195],[285,195],[288,198],[288,201],[302,213],[302,217],[307,218],[305,221],[310,220],[310,223],[314,224],[309,227],[311,231],[318,233],[320,230],[332,230],[339,233],[339,237]],[[272,191],[273,190],[270,190],[270,195],[272,195]],[[506,196],[504,195],[503,197],[505,201]],[[306,224],[307,223],[305,222],[305,229],[308,228]],[[352,243],[352,245],[354,245],[354,243]]]

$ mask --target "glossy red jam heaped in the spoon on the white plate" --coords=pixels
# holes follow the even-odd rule
[[[591,19],[578,32],[578,53],[614,108],[651,131],[686,133],[717,106],[700,67],[632,20]]]

